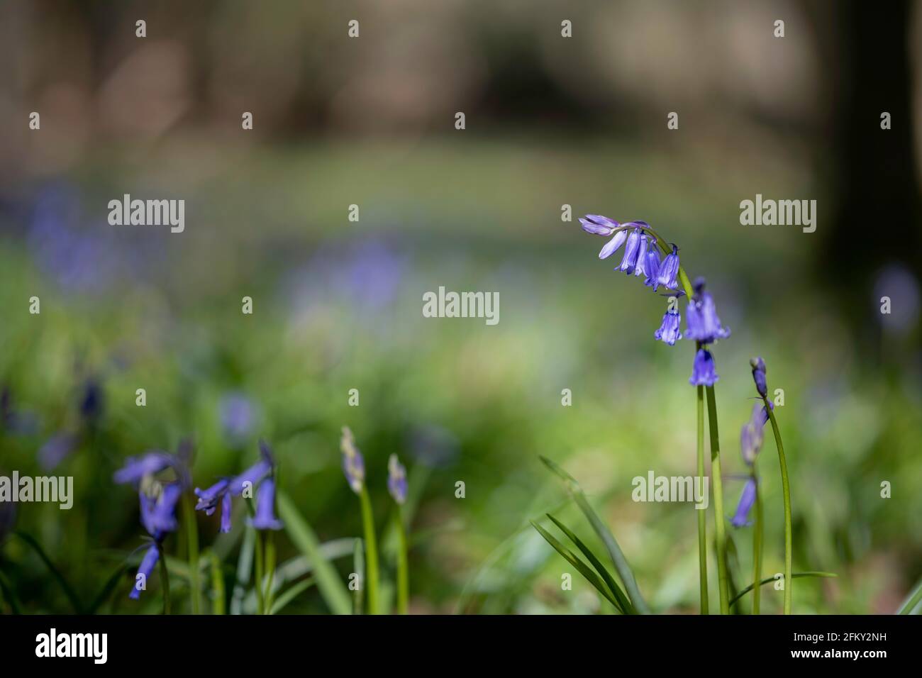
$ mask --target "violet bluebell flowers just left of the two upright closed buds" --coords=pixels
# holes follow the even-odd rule
[[[256,509],[251,525],[255,529],[282,529],[281,520],[276,517],[275,459],[265,441],[259,441],[259,459],[249,469],[232,478],[221,478],[205,490],[195,488],[198,503],[196,511],[205,511],[211,516],[220,506],[220,531],[231,531],[232,499],[235,496],[249,497],[256,491]]]

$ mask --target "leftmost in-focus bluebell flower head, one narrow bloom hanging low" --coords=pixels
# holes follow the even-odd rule
[[[152,450],[141,457],[128,458],[122,469],[117,470],[114,481],[131,484],[137,488],[141,505],[141,525],[150,535],[151,542],[137,568],[136,584],[129,597],[137,600],[146,582],[162,555],[163,540],[178,526],[176,505],[189,486],[188,460],[192,448],[183,442],[175,455]],[[172,470],[175,480],[160,482],[156,476],[165,470]]]

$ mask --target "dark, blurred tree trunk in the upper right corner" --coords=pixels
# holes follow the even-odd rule
[[[834,202],[818,209],[819,256],[836,286],[862,301],[888,262],[922,274],[910,10],[907,0],[810,4],[823,70],[833,75]],[[883,112],[892,116],[889,130],[881,129]]]

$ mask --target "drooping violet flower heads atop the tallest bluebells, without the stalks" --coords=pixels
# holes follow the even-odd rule
[[[658,291],[660,287],[671,292],[670,296],[680,297],[683,292],[679,289],[679,248],[672,245],[672,252],[660,259],[659,243],[650,233],[650,224],[646,221],[619,221],[611,220],[598,214],[587,214],[580,219],[583,230],[594,235],[612,236],[611,240],[602,247],[598,253],[600,259],[613,255],[621,245],[624,245],[624,256],[621,265],[615,270],[620,270],[629,276],[644,278],[644,285]],[[730,330],[720,323],[714,299],[710,293],[704,291],[704,280],[695,280],[694,295],[689,300],[686,311],[686,329],[684,334],[680,330],[681,315],[674,302],[670,302],[659,328],[653,337],[663,341],[669,346],[675,345],[679,339],[691,339],[700,348],[695,354],[694,364],[691,369],[689,382],[692,386],[714,386],[720,378],[715,371],[714,356],[707,346],[717,339],[726,339]]]

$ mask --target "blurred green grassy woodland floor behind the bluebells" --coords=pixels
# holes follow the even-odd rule
[[[728,476],[742,472],[737,436],[751,408],[751,355],[768,363],[770,390],[785,389],[778,418],[790,447],[795,570],[839,575],[798,580],[796,611],[892,612],[922,572],[919,377],[902,368],[917,364],[915,344],[890,337],[888,351],[873,352],[869,337],[850,329],[834,281],[811,268],[815,238],[739,225],[741,196],[805,193],[784,158],[766,151],[759,173],[749,165],[741,172],[742,160],[705,163],[703,152],[475,134],[463,142],[218,150],[183,140],[144,154],[94,151],[64,180],[80,216],[61,220],[116,244],[136,268],[92,291],[57,281],[23,237],[41,187],[6,213],[0,241],[0,385],[40,419],[35,434],[3,434],[0,472],[42,473],[36,451],[74,422],[83,378],[98,376],[105,396],[98,435],[57,470],[75,477],[74,508],[19,505],[18,529],[91,600],[112,575],[112,551],[127,555],[140,543],[136,495],[112,485],[112,470],[194,434],[196,484],[242,470],[265,437],[318,540],[358,537],[337,451],[347,423],[366,458],[379,528],[390,507],[388,455],[413,460],[413,472],[433,467],[413,524],[426,533],[410,552],[413,611],[450,612],[466,584],[467,612],[599,611],[578,577],[575,595],[560,591],[564,563],[522,529],[563,500],[538,455],[583,484],[651,606],[693,611],[694,510],[630,499],[632,478],[647,470],[694,472],[691,350],[685,341],[654,342],[663,300],[597,260],[604,241],[575,218],[601,212],[650,221],[680,244],[691,276],[708,277],[733,329],[715,350]],[[112,230],[103,206],[123,193],[185,197],[186,232]],[[359,223],[346,218],[353,203]],[[563,203],[573,206],[573,222],[561,222]],[[423,318],[423,291],[440,285],[499,291],[500,324]],[[41,315],[28,314],[32,295]],[[244,295],[254,315],[241,314]],[[147,389],[145,409],[135,405],[138,387]],[[353,387],[358,408],[347,402]],[[572,389],[572,407],[561,407],[562,388]],[[247,439],[232,445],[219,422],[220,398],[231,392],[259,410]],[[782,569],[782,507],[770,441],[762,456],[768,576]],[[464,499],[455,498],[457,481],[466,483]],[[892,482],[892,499],[881,499],[881,481]],[[733,507],[741,483],[728,478],[725,488]],[[555,516],[599,553],[572,506]],[[199,516],[203,547],[214,542],[231,569],[242,516],[236,523],[218,536],[217,520]],[[741,588],[750,534],[732,537]],[[298,555],[289,541],[277,543],[279,562]],[[175,537],[167,542],[168,553],[180,548]],[[345,581],[349,564],[335,565]],[[383,565],[393,578],[393,562]],[[4,544],[0,572],[24,611],[67,611],[53,579],[16,541]],[[112,610],[156,611],[150,600],[118,600],[129,581]],[[781,605],[770,589],[766,613]],[[325,609],[312,588],[285,612]]]

